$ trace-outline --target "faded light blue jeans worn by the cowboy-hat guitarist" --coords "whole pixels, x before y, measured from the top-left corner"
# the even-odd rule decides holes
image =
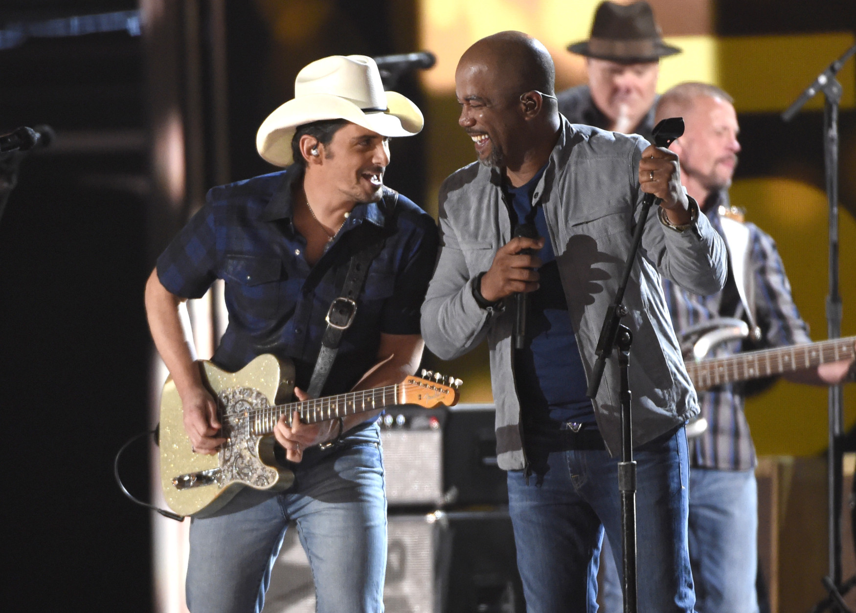
[[[309,558],[319,613],[383,611],[386,494],[377,425],[339,449],[307,450],[294,473],[285,492],[247,487],[216,515],[193,518],[193,613],[260,611],[290,521]]]

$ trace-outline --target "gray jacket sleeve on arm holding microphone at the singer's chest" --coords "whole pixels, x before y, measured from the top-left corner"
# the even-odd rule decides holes
[[[443,360],[464,355],[487,334],[493,309],[482,309],[473,298],[473,281],[441,202],[440,251],[422,304],[422,338],[428,349]]]

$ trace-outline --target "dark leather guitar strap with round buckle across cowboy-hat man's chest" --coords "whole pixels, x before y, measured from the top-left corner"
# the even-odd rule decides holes
[[[390,215],[394,214],[395,206],[398,204],[398,192],[384,186],[381,202]],[[336,354],[339,352],[342,337],[354,323],[354,316],[357,314],[357,298],[360,297],[360,292],[366,285],[366,276],[368,276],[369,268],[372,266],[372,260],[381,252],[384,242],[385,239],[383,238],[372,241],[371,244],[366,245],[351,257],[348,274],[342,285],[342,292],[338,298],[333,300],[330,309],[327,311],[327,329],[321,339],[321,351],[318,352],[318,360],[316,360],[315,369],[312,371],[309,389],[306,390],[310,398],[321,396],[321,390],[324,389],[330,368],[333,367]]]

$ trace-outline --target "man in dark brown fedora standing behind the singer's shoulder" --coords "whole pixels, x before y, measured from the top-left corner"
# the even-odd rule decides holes
[[[568,46],[586,56],[588,85],[562,91],[559,112],[571,123],[636,133],[651,142],[659,60],[681,53],[663,43],[651,6],[604,2],[588,40]]]

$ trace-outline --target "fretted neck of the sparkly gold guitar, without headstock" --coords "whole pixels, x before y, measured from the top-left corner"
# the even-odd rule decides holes
[[[291,425],[292,416],[296,411],[303,423],[329,421],[337,417],[366,413],[367,411],[383,409],[384,407],[403,404],[399,388],[403,384],[376,387],[360,392],[347,392],[336,396],[312,398],[300,402],[275,404],[263,410],[254,411],[252,428],[253,434],[263,436],[273,432],[276,421],[286,416]]]

